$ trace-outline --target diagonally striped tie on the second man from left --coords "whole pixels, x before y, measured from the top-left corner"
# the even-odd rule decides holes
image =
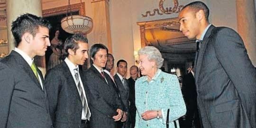
[[[87,101],[85,100],[85,96],[82,93],[82,86],[81,86],[80,81],[79,81],[78,69],[75,68],[74,72],[75,72],[75,80],[76,80],[76,83],[77,83],[78,92],[79,92],[79,95],[80,95],[80,98],[81,98],[81,101],[82,101],[82,106],[83,106],[82,109],[83,109],[83,112],[85,114],[84,116],[87,118],[87,120],[90,120],[91,112],[88,111]]]

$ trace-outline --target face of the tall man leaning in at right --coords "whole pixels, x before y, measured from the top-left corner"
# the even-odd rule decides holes
[[[196,12],[192,11],[189,7],[184,8],[179,14],[180,31],[188,39],[200,39],[200,19]]]

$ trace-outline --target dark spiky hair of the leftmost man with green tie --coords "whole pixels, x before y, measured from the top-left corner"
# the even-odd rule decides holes
[[[50,23],[42,17],[38,17],[29,13],[19,16],[11,24],[11,32],[17,47],[21,42],[21,37],[24,33],[29,32],[36,36],[39,26],[51,29]]]

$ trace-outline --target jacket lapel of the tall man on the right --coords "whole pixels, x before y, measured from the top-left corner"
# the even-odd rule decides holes
[[[203,59],[203,55],[204,55],[204,52],[205,52],[205,49],[206,49],[206,46],[208,44],[208,41],[209,41],[209,37],[210,37],[210,34],[212,32],[212,30],[215,28],[215,26],[211,25],[209,27],[209,29],[207,30],[207,32],[205,33],[204,37],[203,37],[203,40],[202,40],[202,44],[201,44],[201,48],[200,48],[200,51],[198,53],[198,58],[197,58],[197,63],[196,63],[196,69],[195,69],[195,82],[197,83],[197,80],[198,80],[198,76],[199,76],[199,72],[201,70],[201,64],[202,64],[202,59]]]

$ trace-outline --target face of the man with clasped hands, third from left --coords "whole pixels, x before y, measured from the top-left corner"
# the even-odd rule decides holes
[[[93,61],[93,64],[95,66],[97,66],[98,68],[102,69],[106,65],[107,58],[108,58],[107,50],[106,49],[100,49],[95,54],[94,58],[91,58],[91,60]]]

